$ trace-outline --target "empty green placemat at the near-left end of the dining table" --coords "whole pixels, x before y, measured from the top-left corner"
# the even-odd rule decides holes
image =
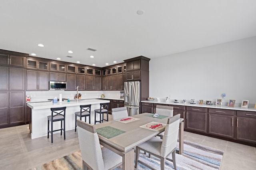
[[[118,128],[113,128],[110,126],[107,127],[102,127],[102,128],[98,128],[96,129],[97,133],[107,139],[115,137],[119,134],[125,133],[126,131],[120,130]]]

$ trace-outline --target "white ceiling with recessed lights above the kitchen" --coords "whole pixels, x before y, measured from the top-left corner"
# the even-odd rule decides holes
[[[138,15],[137,10],[144,10],[144,14]],[[0,3],[0,49],[98,67],[140,55],[162,57],[252,36],[256,36],[256,0]],[[88,51],[89,47],[97,51]]]

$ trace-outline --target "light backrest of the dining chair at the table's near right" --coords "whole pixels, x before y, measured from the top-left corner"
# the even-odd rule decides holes
[[[176,148],[180,126],[180,114],[168,119],[166,124],[160,154],[162,157],[168,155]]]

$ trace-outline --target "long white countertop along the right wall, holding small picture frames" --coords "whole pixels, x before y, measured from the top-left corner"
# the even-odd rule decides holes
[[[199,105],[199,104],[190,104],[190,103],[174,103],[174,102],[166,102],[166,101],[141,101],[146,103],[156,103],[156,104],[164,104],[164,105],[179,105],[179,106],[194,106],[194,107],[207,107],[207,108],[214,108],[214,109],[229,109],[229,110],[239,110],[239,111],[253,111],[256,112],[254,108],[241,108],[238,106],[235,107],[228,107],[228,106],[216,106],[216,105]]]

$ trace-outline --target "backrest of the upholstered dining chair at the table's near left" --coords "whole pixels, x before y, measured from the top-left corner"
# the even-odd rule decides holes
[[[104,161],[96,128],[80,120],[77,120],[77,126],[78,140],[83,161],[88,164],[90,169],[103,170]]]

